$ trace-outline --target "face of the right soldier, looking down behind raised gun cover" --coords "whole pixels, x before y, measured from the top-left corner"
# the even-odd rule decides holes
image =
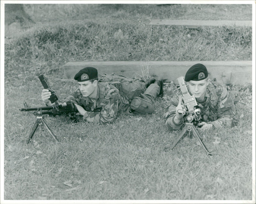
[[[192,95],[194,95],[195,98],[204,99],[208,83],[209,83],[209,81],[207,78],[204,80],[201,80],[201,81],[190,80],[188,82],[188,88],[189,88],[190,93]]]

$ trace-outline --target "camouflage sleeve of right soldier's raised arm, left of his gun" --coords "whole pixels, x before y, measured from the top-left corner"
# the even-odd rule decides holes
[[[171,105],[166,108],[166,112],[164,113],[165,125],[170,130],[180,129],[180,127],[184,124],[184,118],[182,118],[179,124],[175,123],[173,120],[176,113],[176,107],[178,106],[179,98],[181,96],[181,92],[177,91],[170,101]]]

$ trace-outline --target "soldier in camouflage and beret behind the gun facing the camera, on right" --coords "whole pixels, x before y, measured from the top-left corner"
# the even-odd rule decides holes
[[[212,84],[208,78],[208,72],[204,65],[196,64],[190,67],[185,75],[188,91],[194,95],[198,106],[202,109],[204,121],[200,129],[220,129],[223,126],[235,125],[236,109],[233,102],[233,94],[229,94],[227,88],[220,84]],[[238,95],[238,94],[237,94]],[[178,113],[179,109],[186,110],[181,105],[179,90],[171,100],[171,106],[167,107],[164,114],[165,125],[168,129],[180,129],[184,124],[184,116]]]

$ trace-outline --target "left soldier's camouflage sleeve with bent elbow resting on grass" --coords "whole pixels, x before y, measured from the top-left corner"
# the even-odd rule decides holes
[[[101,124],[114,121],[118,112],[119,98],[119,91],[117,89],[110,89],[101,103],[101,111],[86,112],[83,119],[88,122]]]

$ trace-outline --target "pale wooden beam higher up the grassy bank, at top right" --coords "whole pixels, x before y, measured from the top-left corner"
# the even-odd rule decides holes
[[[252,20],[151,20],[149,25],[172,25],[198,28],[201,26],[246,26],[252,27]]]

